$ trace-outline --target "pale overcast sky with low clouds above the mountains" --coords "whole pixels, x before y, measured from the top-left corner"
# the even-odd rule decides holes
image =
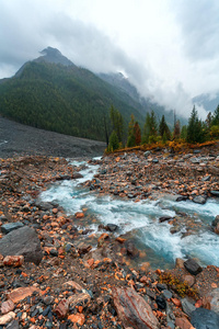
[[[219,90],[219,0],[0,0],[0,78],[47,46],[189,115]]]

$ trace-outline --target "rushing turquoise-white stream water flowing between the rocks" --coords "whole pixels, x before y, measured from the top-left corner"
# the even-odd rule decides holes
[[[73,161],[71,164],[81,166],[83,162]],[[219,215],[217,200],[209,200],[200,205],[189,201],[174,202],[169,196],[138,203],[100,196],[81,186],[81,183],[93,178],[97,168],[99,166],[87,166],[80,171],[83,178],[54,184],[42,193],[42,200],[58,202],[68,214],[88,208],[99,219],[95,225],[92,224],[92,229],[96,231],[100,223],[118,225],[117,235],[130,234],[137,247],[146,251],[145,261],[149,261],[153,268],[172,266],[177,257],[195,257],[201,264],[219,265],[219,236],[210,230],[212,219]],[[198,224],[198,229],[184,238],[184,226],[176,234],[171,234],[170,224],[159,223],[161,216],[174,217],[178,212],[188,214]]]

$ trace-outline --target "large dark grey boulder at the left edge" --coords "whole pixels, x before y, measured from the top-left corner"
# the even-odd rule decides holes
[[[23,256],[25,262],[39,264],[43,258],[41,241],[31,227],[12,230],[0,239],[0,253],[3,256]]]

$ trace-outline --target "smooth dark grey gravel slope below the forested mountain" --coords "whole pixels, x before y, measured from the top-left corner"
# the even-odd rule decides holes
[[[103,141],[34,128],[0,116],[0,158],[37,155],[65,158],[101,156]]]

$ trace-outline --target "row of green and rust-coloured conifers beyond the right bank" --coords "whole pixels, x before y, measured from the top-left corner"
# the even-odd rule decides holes
[[[147,113],[143,129],[140,128],[134,114],[130,116],[128,129],[124,125],[122,114],[114,105],[110,109],[111,136],[107,143],[107,150],[114,151],[123,147],[135,147],[147,144],[162,143],[168,140],[186,141],[188,144],[205,143],[219,138],[219,105],[215,113],[209,112],[205,121],[198,117],[194,105],[187,125],[181,127],[181,122],[174,120],[173,131],[170,129],[165,116],[159,121],[153,110]],[[125,132],[128,131],[127,137]]]

